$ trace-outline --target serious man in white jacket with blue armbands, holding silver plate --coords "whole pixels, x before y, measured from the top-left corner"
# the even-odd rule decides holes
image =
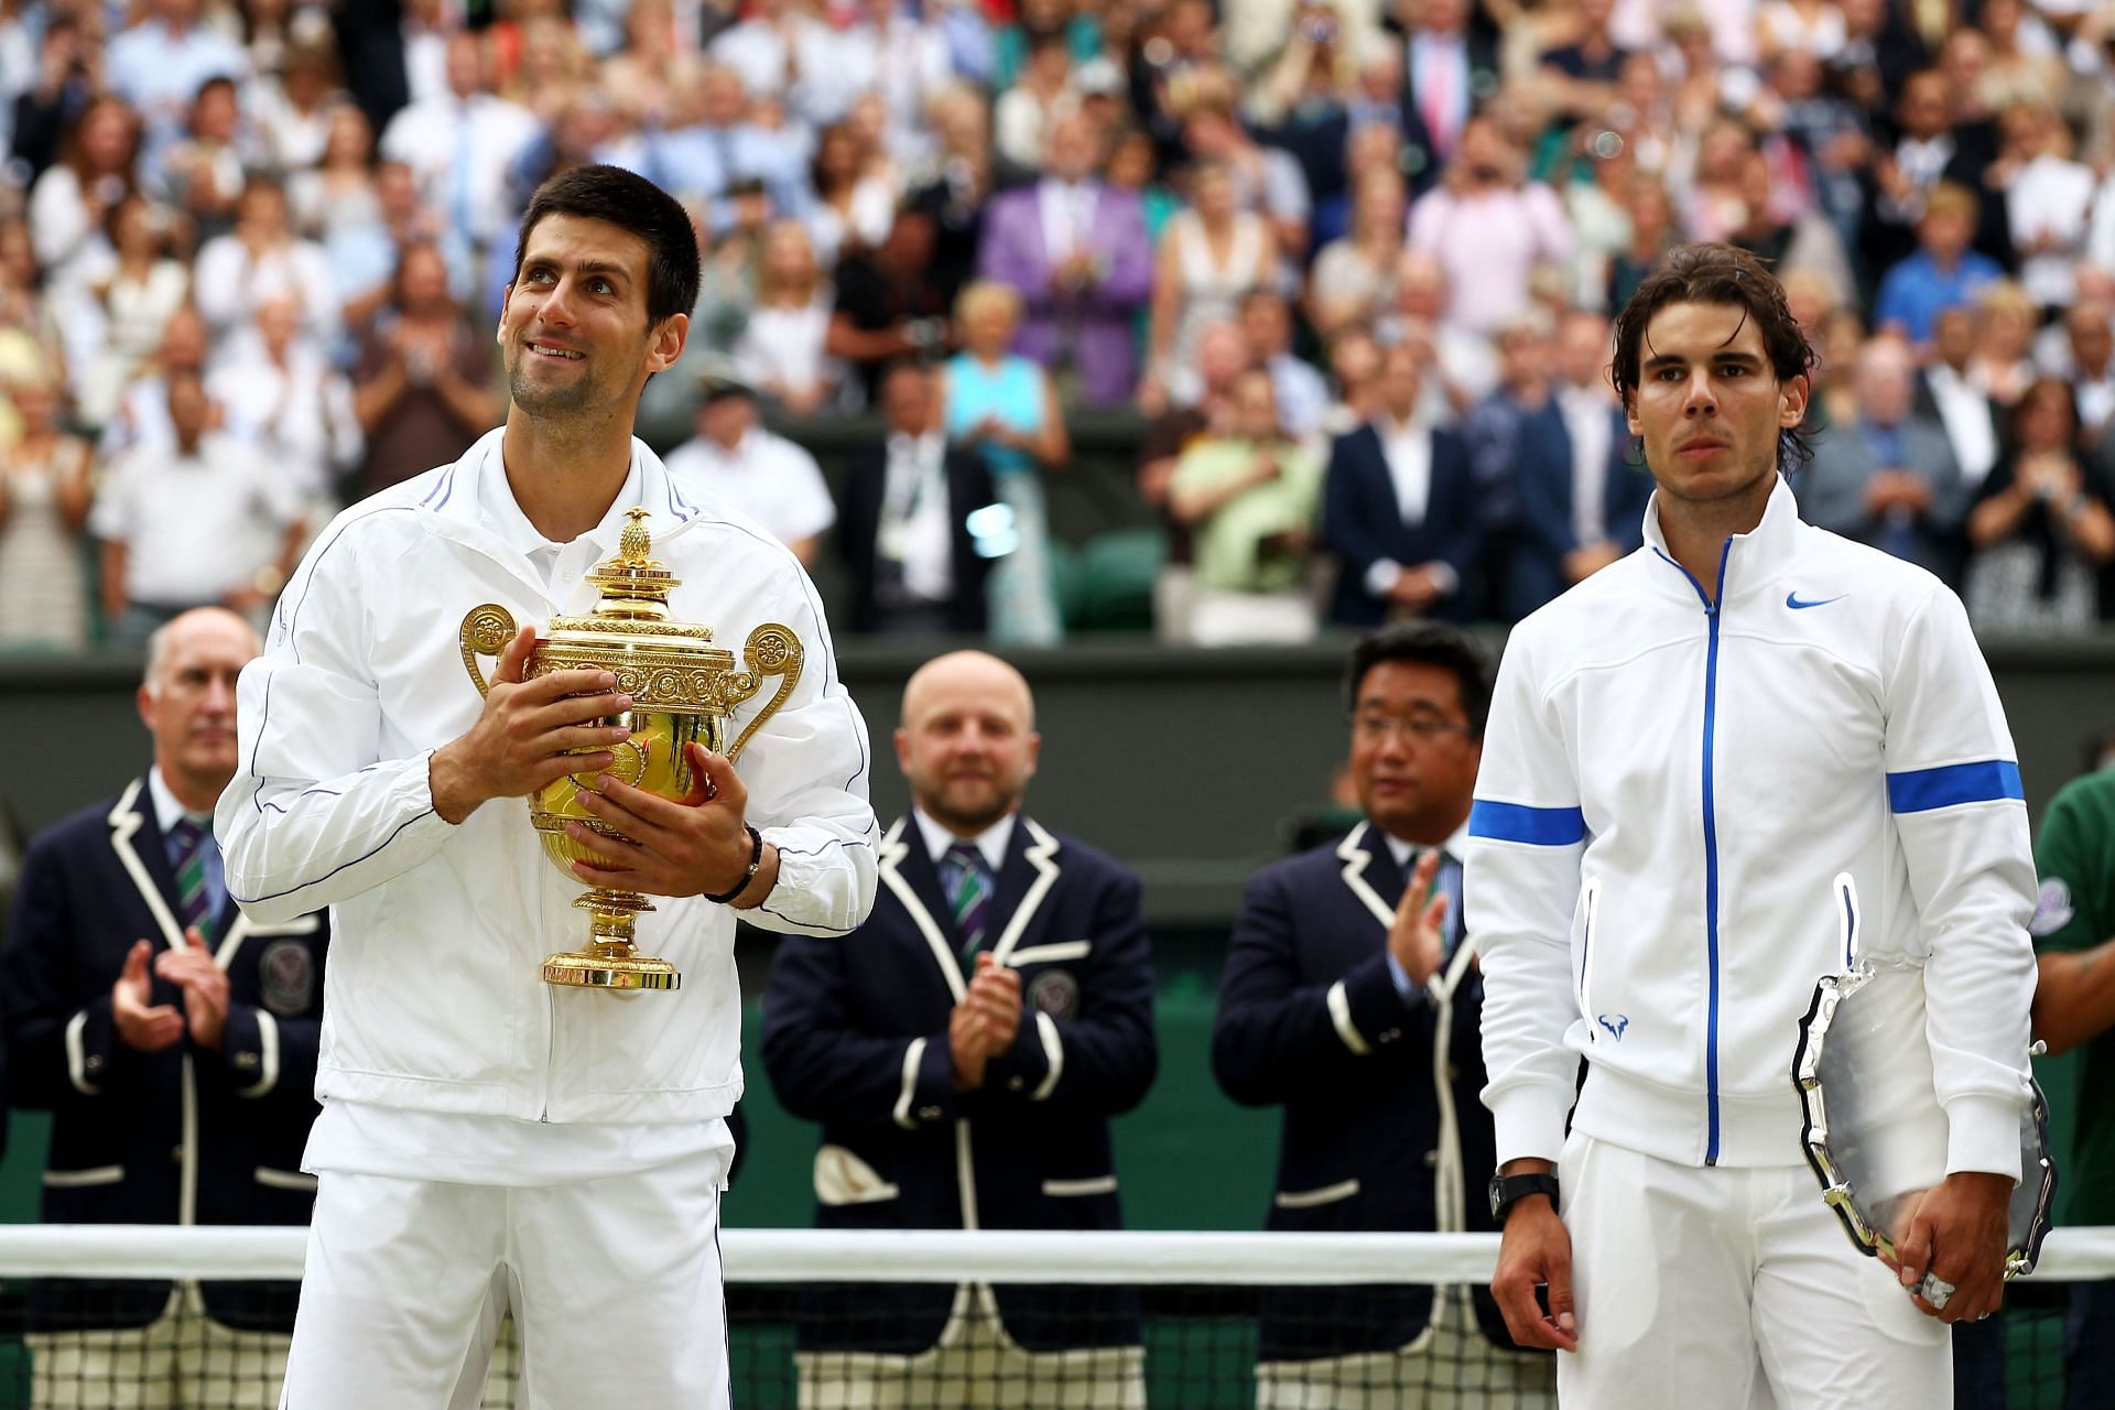
[[[1514,630],[1470,816],[1493,1294],[1569,1353],[1567,1410],[1950,1406],[2033,1110],[2005,715],[1944,583],[1800,522],[1815,355],[1753,256],[1673,252],[1614,353],[1645,545]],[[1817,981],[1865,966],[1887,1264],[1787,1080]]]

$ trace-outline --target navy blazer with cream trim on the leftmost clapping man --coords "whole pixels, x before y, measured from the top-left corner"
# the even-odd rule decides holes
[[[250,922],[228,901],[214,953],[228,972],[222,1049],[127,1046],[110,989],[135,941],[184,943],[178,890],[146,778],[30,843],[0,951],[0,1027],[15,1106],[53,1114],[47,1224],[307,1224],[315,1177],[315,1053],[330,920]],[[152,977],[150,1004],[182,1010]],[[32,1328],[144,1325],[167,1283],[44,1281]],[[288,1330],[292,1283],[205,1283],[228,1325]]]

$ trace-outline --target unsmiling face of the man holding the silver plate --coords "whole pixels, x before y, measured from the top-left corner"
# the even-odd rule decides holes
[[[1762,330],[1739,304],[1667,304],[1645,323],[1631,433],[1669,499],[1768,501],[1779,433],[1806,414],[1806,381],[1779,383]]]

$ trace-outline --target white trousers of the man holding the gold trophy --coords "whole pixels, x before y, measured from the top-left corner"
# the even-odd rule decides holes
[[[281,1410],[725,1410],[719,1152],[569,1186],[324,1173]]]

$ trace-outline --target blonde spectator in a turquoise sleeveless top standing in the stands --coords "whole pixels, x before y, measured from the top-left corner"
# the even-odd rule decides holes
[[[954,304],[962,351],[943,370],[948,440],[983,454],[1000,503],[1013,509],[1015,545],[992,564],[986,596],[992,641],[1047,647],[1064,638],[1051,583],[1043,469],[1072,457],[1049,374],[1009,353],[1022,296],[979,279]]]

